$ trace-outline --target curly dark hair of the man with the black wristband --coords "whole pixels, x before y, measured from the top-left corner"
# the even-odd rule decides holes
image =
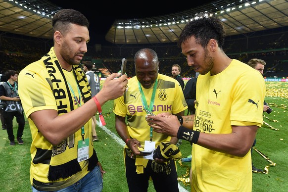
[[[225,30],[223,23],[220,19],[211,16],[201,16],[190,21],[180,34],[178,46],[187,41],[190,37],[194,36],[197,44],[205,48],[210,41],[214,39],[218,43],[219,48],[223,48],[225,40]]]

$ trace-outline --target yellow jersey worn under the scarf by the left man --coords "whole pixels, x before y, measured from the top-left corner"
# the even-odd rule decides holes
[[[83,98],[79,98],[79,92],[77,88],[77,83],[73,74],[73,71],[68,72],[63,70],[65,78],[67,82],[70,84],[76,99],[81,101],[83,104]],[[31,78],[32,77],[32,78]],[[81,171],[72,175],[67,179],[60,179],[57,182],[50,182],[48,181],[48,169],[49,169],[49,162],[50,156],[49,155],[52,150],[53,145],[50,144],[45,137],[38,131],[34,122],[29,118],[29,115],[35,111],[45,110],[45,109],[57,109],[56,101],[54,94],[51,90],[51,85],[48,83],[48,79],[50,79],[48,75],[48,71],[45,68],[45,65],[42,60],[36,61],[28,66],[26,66],[20,73],[18,78],[19,83],[19,95],[21,97],[21,102],[28,118],[28,122],[30,125],[31,135],[32,135],[32,144],[30,148],[31,152],[31,166],[30,166],[30,182],[31,185],[38,185],[43,187],[43,190],[59,190],[65,187],[68,187],[74,184],[76,181],[83,178],[88,173],[88,160],[81,161],[79,163],[81,167]],[[71,96],[73,93],[70,88],[67,88],[70,91]],[[78,108],[78,104],[75,97],[72,101],[70,101],[73,108]],[[68,109],[68,111],[70,111]],[[45,117],[43,117],[45,118]],[[64,128],[63,128],[64,129]],[[92,122],[91,120],[85,124],[85,139],[90,139],[90,147],[89,153],[93,153],[93,142],[92,142]],[[61,149],[57,149],[58,153],[66,153],[68,158],[73,156],[77,157],[75,152],[77,151],[78,141],[82,140],[81,136],[81,129],[78,130],[75,134],[71,135],[70,137],[65,140],[65,142],[61,143]],[[67,141],[67,143],[66,143]],[[76,150],[75,150],[76,148]],[[73,151],[71,149],[74,149]],[[73,155],[71,154],[73,152]],[[57,155],[53,154],[53,155]],[[47,159],[47,160],[45,160]],[[66,161],[67,159],[62,159]],[[52,185],[48,185],[51,184]],[[43,185],[45,184],[45,185]]]

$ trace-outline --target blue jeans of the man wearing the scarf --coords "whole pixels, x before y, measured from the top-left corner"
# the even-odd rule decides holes
[[[100,167],[96,166],[92,171],[90,171],[86,176],[84,176],[75,184],[56,192],[102,192],[102,189],[103,179],[101,176]],[[38,191],[32,186],[32,192],[45,191]]]

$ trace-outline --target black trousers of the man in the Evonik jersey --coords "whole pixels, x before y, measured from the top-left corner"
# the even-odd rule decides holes
[[[137,174],[135,161],[136,159],[126,154],[125,167],[129,192],[147,192],[150,177],[156,192],[179,192],[174,160],[170,160],[171,173],[169,175],[165,172],[155,173],[151,168],[152,160],[148,161],[143,174]]]

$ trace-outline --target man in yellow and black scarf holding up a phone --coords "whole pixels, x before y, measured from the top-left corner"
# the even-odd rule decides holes
[[[54,46],[19,74],[32,135],[32,191],[101,192],[105,171],[92,142],[92,117],[105,102],[123,96],[127,76],[111,74],[92,97],[79,67],[90,41],[89,21],[79,11],[61,9],[51,23]]]

